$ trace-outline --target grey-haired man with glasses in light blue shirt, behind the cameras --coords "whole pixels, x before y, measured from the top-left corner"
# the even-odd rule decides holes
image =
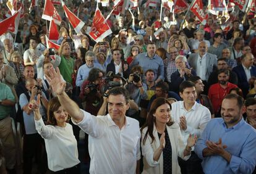
[[[83,81],[88,78],[90,70],[92,68],[100,68],[99,64],[94,64],[95,55],[92,51],[87,51],[85,54],[85,64],[82,65],[77,72],[77,79],[75,80],[75,85],[81,87]]]

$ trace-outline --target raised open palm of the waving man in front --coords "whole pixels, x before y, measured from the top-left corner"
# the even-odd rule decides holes
[[[45,75],[47,80],[49,81],[49,85],[53,89],[53,92],[57,95],[61,95],[65,91],[66,81],[64,81],[61,77],[61,73],[59,72],[59,68],[51,68],[49,70],[49,76]]]

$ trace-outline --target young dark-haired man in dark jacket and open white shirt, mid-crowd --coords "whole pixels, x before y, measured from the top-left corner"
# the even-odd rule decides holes
[[[112,61],[106,67],[106,73],[113,72],[114,74],[119,74],[124,78],[129,77],[129,69],[127,62],[122,62],[121,60],[121,50],[113,49],[112,50]]]

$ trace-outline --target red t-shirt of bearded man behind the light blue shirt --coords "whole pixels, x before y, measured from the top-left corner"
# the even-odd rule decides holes
[[[211,104],[213,104],[213,109],[215,114],[218,113],[221,109],[221,102],[223,101],[224,97],[228,95],[230,89],[237,88],[236,85],[233,83],[228,82],[228,86],[226,89],[223,89],[220,86],[220,83],[215,83],[210,86],[208,91],[208,97],[211,100]]]

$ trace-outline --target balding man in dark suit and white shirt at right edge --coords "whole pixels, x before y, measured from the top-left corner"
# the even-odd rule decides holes
[[[253,64],[254,55],[252,53],[246,53],[242,56],[242,64],[233,68],[233,72],[237,74],[237,86],[242,89],[244,97],[246,97],[249,91],[249,79],[256,77],[256,67]]]

